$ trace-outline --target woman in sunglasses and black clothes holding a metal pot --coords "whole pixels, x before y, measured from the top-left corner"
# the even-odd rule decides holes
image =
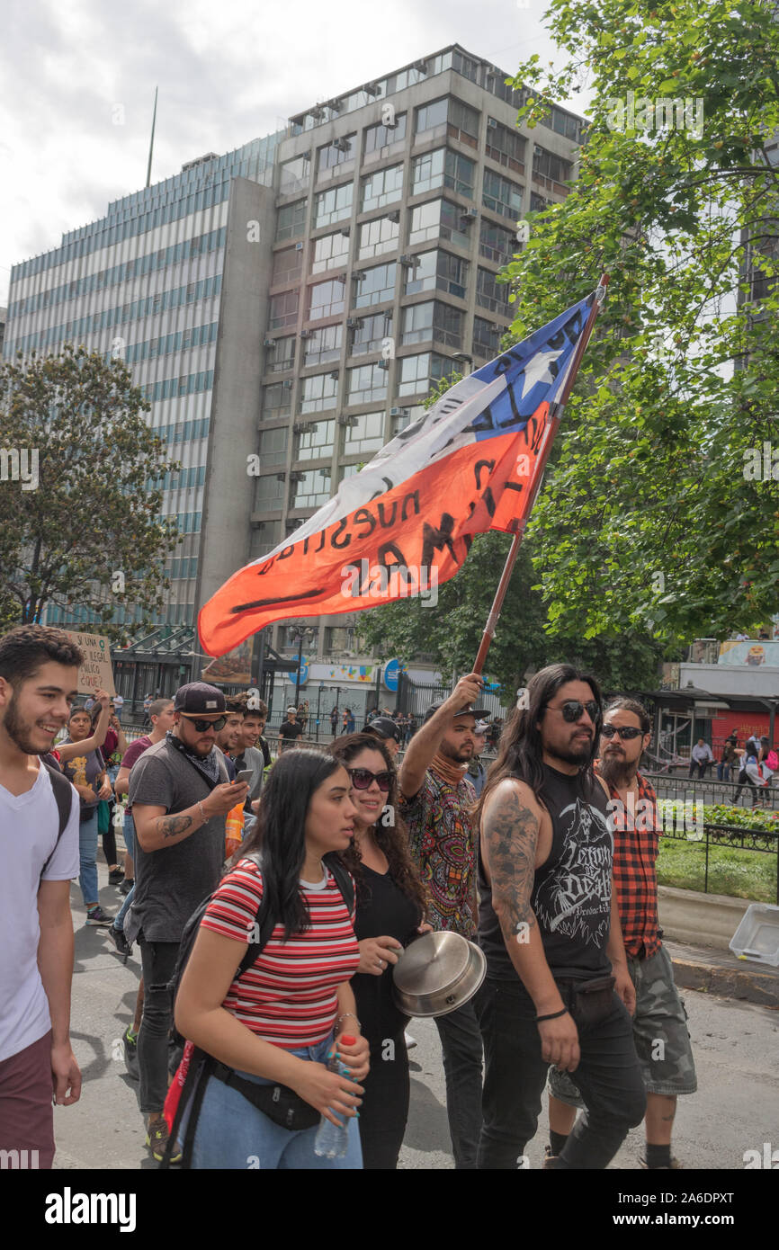
[[[430,930],[426,898],[398,815],[398,779],[386,746],[371,734],[349,734],[329,751],[346,768],[356,809],[354,839],[341,859],[356,881],[360,964],[351,988],[370,1045],[360,1108],[363,1166],[386,1170],[398,1166],[410,1095],[408,1016],[393,1000],[393,966],[404,946]]]

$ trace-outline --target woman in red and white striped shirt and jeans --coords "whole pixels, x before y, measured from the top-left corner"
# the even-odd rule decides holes
[[[283,755],[269,774],[244,854],[263,850],[263,870],[239,859],[203,919],[176,996],[176,1028],[195,1046],[256,1085],[284,1085],[328,1120],[345,1118],[341,1159],[314,1154],[316,1125],[288,1130],[243,1092],[209,1078],[193,1168],[361,1168],[354,1116],[369,1069],[349,980],[360,952],[351,914],[324,856],[354,832],[349,774],[319,751]],[[235,970],[268,891],[276,925],[255,962]],[[254,939],[256,940],[256,938]],[[344,1036],[354,1039],[350,1044]],[[351,1079],[331,1072],[333,1045]]]

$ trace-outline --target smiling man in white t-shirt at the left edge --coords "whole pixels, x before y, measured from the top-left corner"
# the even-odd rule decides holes
[[[79,795],[41,761],[68,721],[84,656],[63,630],[0,638],[0,1151],[51,1168],[53,1100],[78,1101],[70,1045]]]

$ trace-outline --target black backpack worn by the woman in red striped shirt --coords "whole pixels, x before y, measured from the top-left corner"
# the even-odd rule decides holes
[[[250,859],[254,864],[256,864],[260,871],[263,871],[261,851],[255,851],[253,855],[244,855],[243,858]],[[354,882],[351,880],[351,876],[349,875],[348,870],[344,868],[344,865],[341,864],[340,859],[335,852],[324,855],[323,862],[331,871],[335,879],[335,884],[341,891],[341,896],[344,899],[344,902],[346,904],[349,915],[351,915],[351,909],[354,906]],[[214,894],[216,890],[214,890]],[[181,985],[181,978],[184,976],[184,969],[186,968],[189,958],[193,952],[193,946],[195,945],[195,939],[200,929],[200,921],[203,920],[206,908],[211,901],[211,899],[214,898],[214,894],[209,894],[208,899],[204,899],[203,902],[195,909],[195,911],[193,911],[191,916],[184,925],[184,930],[181,932],[181,942],[179,946],[176,966],[174,969],[173,978],[168,982],[168,989],[170,990],[171,994],[174,1021],[175,1021],[176,996],[179,992],[179,986]],[[254,925],[255,925],[255,932],[258,935],[258,941],[249,942],[249,946],[246,948],[246,954],[244,955],[238,966],[238,971],[234,978],[235,980],[239,976],[243,976],[248,968],[251,968],[254,961],[259,958],[259,955],[268,945],[273,935],[273,931],[276,928],[276,918],[275,915],[273,915],[270,910],[270,906],[268,904],[268,892],[265,890],[263,890],[263,898],[260,900],[260,905],[254,918]],[[178,1049],[181,1049],[186,1041],[186,1039],[183,1038],[179,1030],[176,1029],[175,1022],[171,1024],[170,1028],[170,1039],[173,1045],[176,1046]],[[189,1071],[184,1081],[184,1088],[181,1089],[181,1095],[179,1098],[179,1105],[170,1130],[168,1146],[165,1149],[163,1161],[160,1162],[161,1169],[166,1169],[170,1166],[170,1159],[179,1132],[179,1125],[181,1122],[185,1108],[191,1098],[193,1102],[191,1115],[186,1125],[186,1134],[185,1134],[186,1140],[184,1142],[184,1151],[183,1151],[183,1166],[189,1168],[191,1159],[191,1148],[195,1136],[195,1128],[198,1124],[198,1115],[200,1112],[200,1104],[203,1101],[203,1095],[205,1094],[205,1086],[208,1084],[210,1069],[214,1066],[215,1062],[216,1061],[211,1055],[208,1055],[205,1051],[200,1050],[199,1048],[195,1048],[190,1059]]]

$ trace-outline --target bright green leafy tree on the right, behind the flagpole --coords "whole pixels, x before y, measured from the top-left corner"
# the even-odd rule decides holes
[[[550,625],[721,639],[778,598],[775,6],[551,0],[548,18],[570,60],[520,66],[519,116],[586,74],[591,121],[570,194],[508,268],[513,335],[610,274],[529,526]]]

